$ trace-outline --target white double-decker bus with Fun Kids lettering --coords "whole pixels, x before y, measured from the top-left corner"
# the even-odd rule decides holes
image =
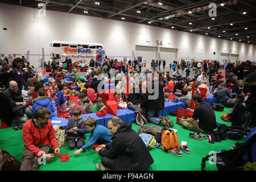
[[[79,60],[96,59],[96,55],[105,56],[103,44],[81,43],[81,42],[62,42],[52,41],[50,44],[51,57],[65,60],[66,57],[72,59],[72,62]]]

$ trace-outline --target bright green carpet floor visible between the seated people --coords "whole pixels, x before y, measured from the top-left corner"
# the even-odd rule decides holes
[[[222,113],[227,113],[230,109],[225,108],[224,111],[216,111],[216,119],[218,123],[231,126],[230,122],[224,122],[220,118]],[[207,139],[196,140],[188,137],[189,131],[184,129],[180,125],[176,125],[176,117],[168,115],[170,119],[174,122],[174,129],[177,129],[179,143],[181,141],[186,141],[187,146],[191,148],[191,153],[186,154],[183,152],[181,157],[168,154],[162,150],[162,148],[154,148],[150,151],[154,163],[148,168],[149,171],[200,171],[201,170],[201,160],[203,157],[207,156],[209,151],[221,151],[230,150],[234,143],[243,142],[246,138],[244,136],[241,140],[231,140],[226,139],[218,143],[209,143]],[[147,125],[154,125],[149,123]],[[137,123],[133,123],[133,129],[137,131]],[[86,134],[88,139],[89,134]],[[86,139],[86,140],[87,140]],[[0,148],[10,152],[16,159],[22,162],[22,149],[24,147],[24,142],[22,139],[22,130],[14,131],[13,128],[0,129]],[[95,171],[97,170],[95,164],[101,161],[101,157],[92,150],[92,147],[84,153],[80,153],[78,156],[73,156],[73,152],[76,150],[69,150],[68,146],[60,148],[61,154],[72,155],[68,162],[60,162],[60,158],[55,156],[52,160],[47,161],[46,165],[42,165],[38,168],[39,171],[61,171],[61,170],[86,170]],[[215,165],[210,165],[207,163],[205,170],[216,171]]]

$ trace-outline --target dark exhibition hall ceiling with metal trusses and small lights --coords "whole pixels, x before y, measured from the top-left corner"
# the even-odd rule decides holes
[[[256,0],[2,0],[256,44]],[[43,3],[43,4],[41,4]]]

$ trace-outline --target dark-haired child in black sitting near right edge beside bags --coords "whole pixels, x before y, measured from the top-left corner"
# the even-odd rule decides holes
[[[231,126],[242,126],[243,115],[245,115],[245,106],[243,106],[244,97],[241,94],[237,94],[235,97],[236,105],[234,105],[232,111],[230,111],[229,117],[232,122]]]

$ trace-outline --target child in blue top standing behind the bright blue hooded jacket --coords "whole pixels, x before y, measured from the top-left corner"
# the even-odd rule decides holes
[[[63,90],[63,85],[61,84],[57,84],[55,85],[55,107],[57,107],[58,105],[60,105],[60,111],[61,113],[65,113],[69,110],[69,108],[67,108],[67,100],[66,98],[63,96],[63,93],[61,92],[61,90]]]

